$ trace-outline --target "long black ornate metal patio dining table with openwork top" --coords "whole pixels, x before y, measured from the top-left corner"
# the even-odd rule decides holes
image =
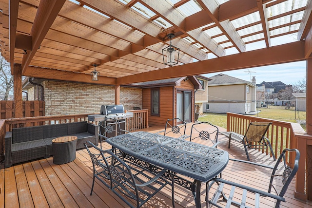
[[[150,132],[121,134],[106,142],[130,158],[170,170],[176,183],[192,190],[196,208],[201,207],[201,182],[210,181],[229,162],[227,151]],[[194,181],[188,183],[184,176]]]

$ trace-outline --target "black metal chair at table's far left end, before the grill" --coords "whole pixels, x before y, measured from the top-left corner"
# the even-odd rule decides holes
[[[119,120],[114,118],[105,117],[103,120],[98,122],[98,138],[100,142],[100,147],[102,149],[102,141],[105,142],[108,139],[107,134],[120,135],[121,132],[128,132],[120,129]]]

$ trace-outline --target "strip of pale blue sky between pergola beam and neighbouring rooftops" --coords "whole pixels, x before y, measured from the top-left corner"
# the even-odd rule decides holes
[[[298,81],[306,78],[306,61],[297,61],[285,64],[275,64],[270,66],[254,67],[249,69],[240,69],[227,72],[221,72],[228,76],[234,76],[246,81],[250,81],[255,76],[256,84],[262,81],[273,82],[281,81],[284,84],[296,84]],[[211,77],[220,73],[204,74]]]

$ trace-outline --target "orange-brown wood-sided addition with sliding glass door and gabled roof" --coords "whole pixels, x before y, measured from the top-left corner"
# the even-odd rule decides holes
[[[141,83],[142,107],[149,110],[149,125],[164,125],[168,118],[194,122],[194,94],[201,85],[195,76]]]

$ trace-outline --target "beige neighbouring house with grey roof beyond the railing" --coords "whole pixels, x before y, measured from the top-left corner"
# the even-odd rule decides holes
[[[210,113],[242,113],[254,114],[255,103],[255,78],[252,82],[218,74],[208,81],[208,103],[206,111]]]

